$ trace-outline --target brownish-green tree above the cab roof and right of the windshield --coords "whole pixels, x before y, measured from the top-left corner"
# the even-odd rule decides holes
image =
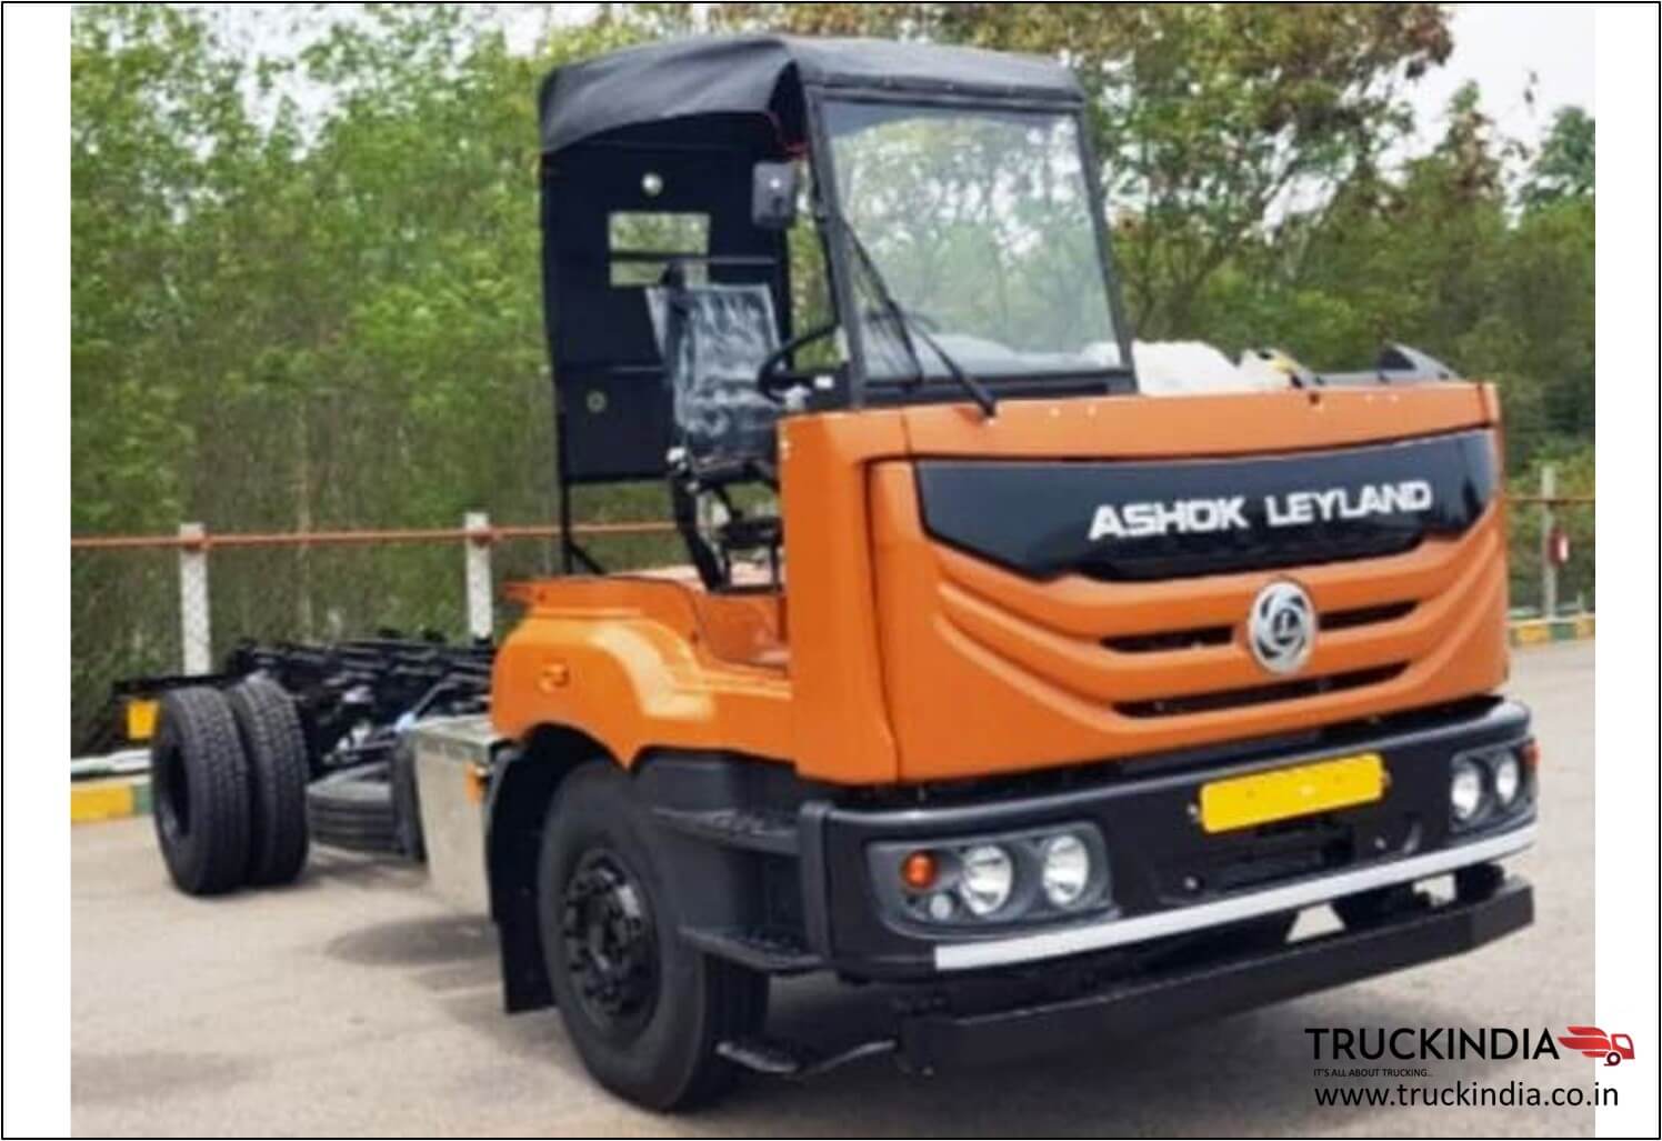
[[[655,32],[683,5],[638,5]],[[665,12],[671,8],[673,12]],[[917,37],[1057,55],[1090,98],[1132,321],[1205,336],[1197,303],[1290,203],[1378,165],[1403,83],[1448,58],[1434,3],[720,3],[718,28]]]

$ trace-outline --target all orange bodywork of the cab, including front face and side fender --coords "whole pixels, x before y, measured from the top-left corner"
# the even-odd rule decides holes
[[[1160,464],[1291,457],[1487,427],[1484,386],[1006,401],[791,416],[779,427],[786,595],[666,575],[532,584],[497,659],[510,737],[565,724],[632,763],[723,748],[833,783],[1007,773],[1246,740],[1494,689],[1504,517],[1381,557],[1228,574],[1027,575],[929,534],[939,461]],[[1486,444],[1487,447],[1487,444]],[[1158,486],[1158,481],[1157,481]],[[1019,516],[1022,504],[989,504]],[[1296,675],[1245,617],[1293,579],[1326,629]],[[1366,615],[1368,620],[1356,620]],[[1185,640],[1188,632],[1203,637]]]

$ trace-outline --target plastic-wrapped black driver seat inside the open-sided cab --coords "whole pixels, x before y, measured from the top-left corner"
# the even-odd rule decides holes
[[[685,266],[671,263],[661,283],[647,289],[647,304],[673,411],[670,502],[698,577],[706,589],[733,589],[735,556],[761,551],[776,587],[779,517],[748,514],[728,494],[740,484],[779,486],[779,406],[756,389],[756,371],[779,348],[773,291],[766,284],[686,284]],[[703,496],[713,496],[726,516],[713,529],[713,544],[700,529]]]

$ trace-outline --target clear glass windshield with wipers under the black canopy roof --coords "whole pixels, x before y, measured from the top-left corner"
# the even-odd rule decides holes
[[[949,376],[907,324],[979,376],[1120,366],[1072,115],[831,101],[826,128],[881,274],[853,274],[869,378]]]

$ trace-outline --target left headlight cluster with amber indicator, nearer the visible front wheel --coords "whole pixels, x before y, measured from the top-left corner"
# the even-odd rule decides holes
[[[871,873],[891,913],[927,925],[1055,918],[1109,900],[1107,850],[1089,823],[878,843]]]

